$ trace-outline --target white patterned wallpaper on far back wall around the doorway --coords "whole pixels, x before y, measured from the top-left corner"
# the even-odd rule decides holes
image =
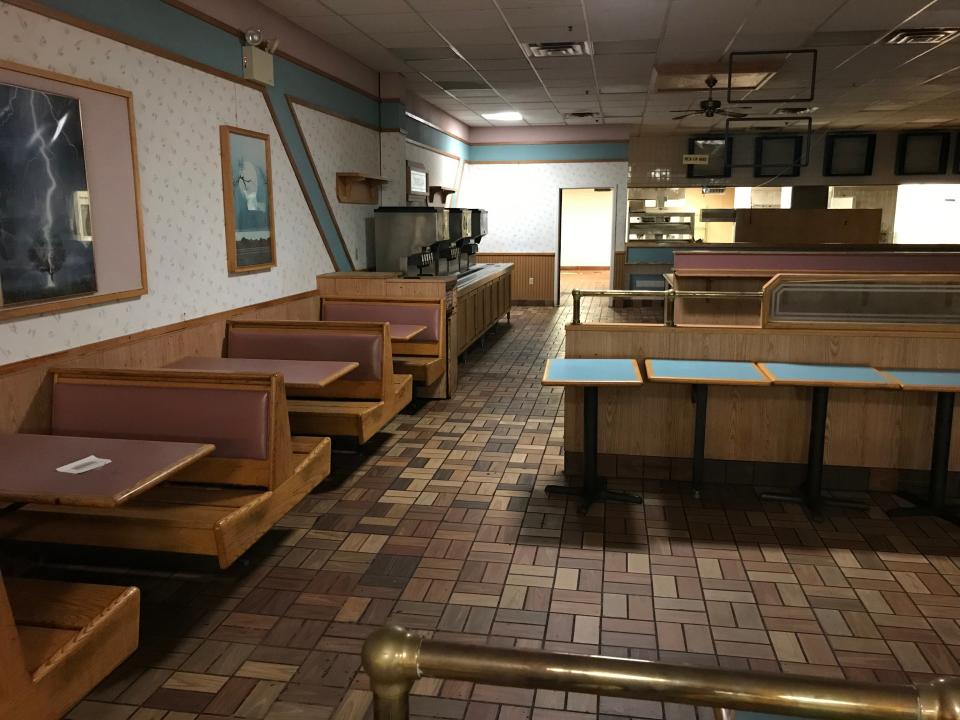
[[[627,224],[627,163],[474,164],[463,173],[457,205],[489,211],[483,252],[556,252],[560,189],[612,187],[616,190],[617,248]]]

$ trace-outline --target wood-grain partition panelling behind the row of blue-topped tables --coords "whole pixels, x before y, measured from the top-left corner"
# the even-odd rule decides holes
[[[567,326],[567,357],[633,357],[866,364],[955,368],[960,336],[924,333],[817,333],[751,328]],[[565,447],[582,448],[580,394],[566,401]],[[935,398],[896,390],[833,390],[827,417],[829,465],[926,470]],[[600,390],[600,452],[690,457],[693,403],[682,384]],[[708,458],[806,461],[808,388],[712,387]],[[960,415],[960,406],[958,406]],[[954,423],[952,470],[960,470],[960,417]]]

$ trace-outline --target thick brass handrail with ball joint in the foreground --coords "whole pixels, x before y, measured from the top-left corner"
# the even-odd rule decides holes
[[[960,679],[919,685],[667,665],[431,640],[401,627],[363,644],[375,720],[407,720],[422,677],[829,720],[958,720]]]

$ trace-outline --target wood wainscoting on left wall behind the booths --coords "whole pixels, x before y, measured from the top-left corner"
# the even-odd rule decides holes
[[[186,355],[222,355],[227,320],[319,317],[311,290],[0,366],[0,433],[50,431],[51,368],[158,368]]]

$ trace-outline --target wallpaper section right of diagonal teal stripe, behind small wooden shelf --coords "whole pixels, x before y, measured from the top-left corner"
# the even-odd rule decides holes
[[[354,264],[358,269],[372,267],[376,205],[339,202],[337,173],[380,175],[380,133],[303,105],[295,104],[294,112]]]

